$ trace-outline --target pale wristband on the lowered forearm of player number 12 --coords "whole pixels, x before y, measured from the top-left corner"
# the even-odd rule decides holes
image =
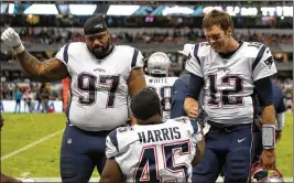
[[[274,149],[275,147],[275,125],[262,125],[263,149]]]

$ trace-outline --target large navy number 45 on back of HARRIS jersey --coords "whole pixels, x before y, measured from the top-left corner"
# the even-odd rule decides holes
[[[133,174],[133,182],[187,182],[188,165],[176,160],[181,160],[182,155],[190,155],[190,146],[189,140],[185,140],[162,144],[162,151],[157,150],[156,146],[144,147]]]

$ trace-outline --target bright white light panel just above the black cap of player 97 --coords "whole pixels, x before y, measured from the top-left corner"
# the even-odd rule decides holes
[[[96,4],[69,4],[69,12],[75,15],[91,15],[96,8]]]

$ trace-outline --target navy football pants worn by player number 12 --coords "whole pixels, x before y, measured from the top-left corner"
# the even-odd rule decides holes
[[[225,183],[249,182],[252,136],[252,125],[211,126],[205,137],[204,159],[193,168],[192,182],[215,183],[222,168]]]

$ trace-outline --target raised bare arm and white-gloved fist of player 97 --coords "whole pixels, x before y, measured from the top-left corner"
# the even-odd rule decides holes
[[[62,61],[51,58],[40,62],[31,55],[24,49],[19,34],[12,28],[7,29],[2,33],[1,40],[15,51],[18,61],[30,77],[45,83],[61,80],[68,76],[68,71]]]

